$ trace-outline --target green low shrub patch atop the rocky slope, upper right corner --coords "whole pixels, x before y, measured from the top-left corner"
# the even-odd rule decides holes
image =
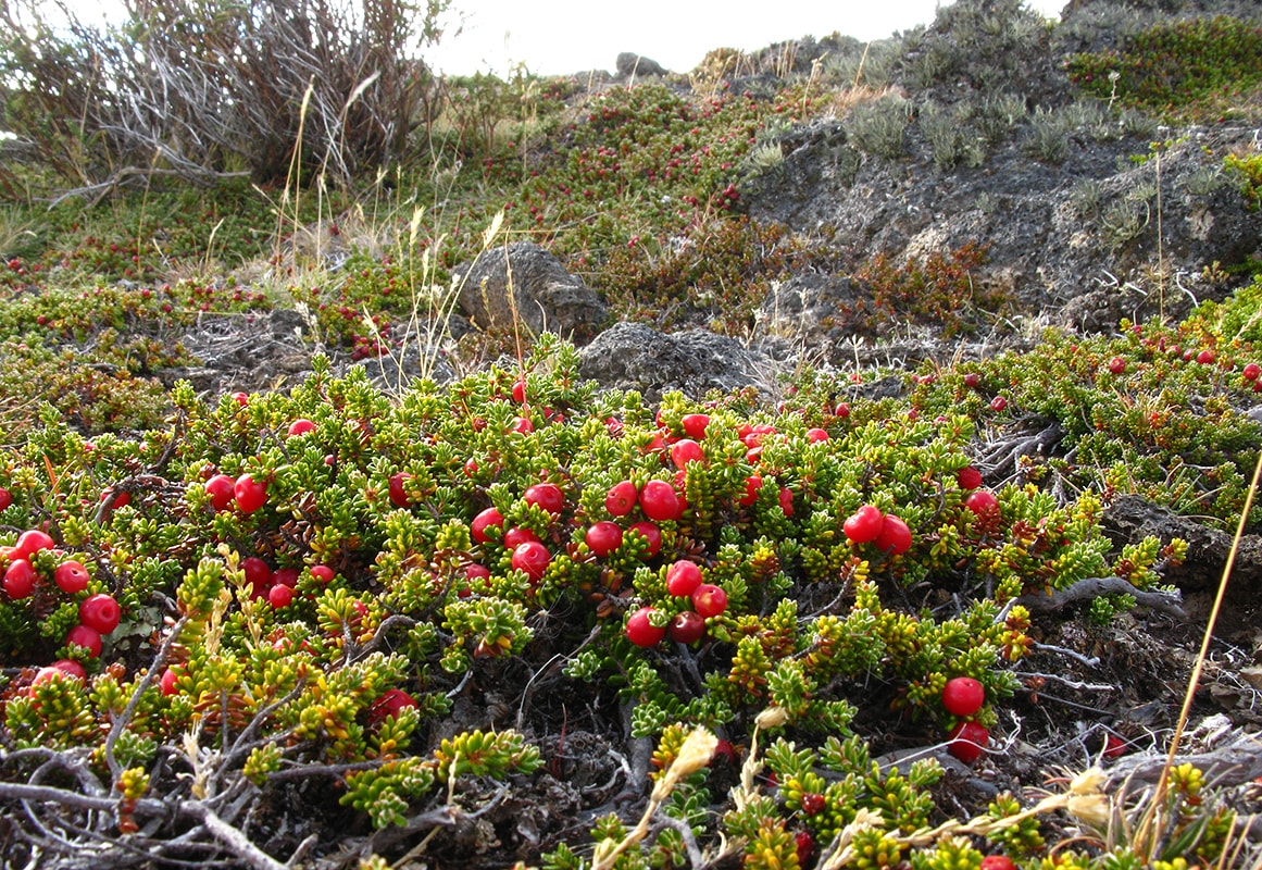
[[[1262,86],[1262,28],[1219,15],[1156,24],[1118,51],[1075,54],[1070,80],[1102,100],[1180,119],[1218,119]]]

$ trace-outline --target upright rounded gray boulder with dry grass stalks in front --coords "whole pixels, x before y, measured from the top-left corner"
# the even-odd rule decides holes
[[[485,251],[473,263],[457,266],[454,277],[461,308],[483,330],[511,330],[516,317],[533,333],[546,330],[582,343],[607,313],[604,302],[582,279],[533,241]]]

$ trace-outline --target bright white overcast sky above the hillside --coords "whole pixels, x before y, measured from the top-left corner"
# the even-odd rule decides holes
[[[371,0],[365,0],[371,1]],[[66,0],[85,20],[115,18],[120,0]],[[1068,0],[1026,0],[1058,18]],[[693,69],[713,48],[753,51],[786,39],[839,32],[883,39],[934,19],[939,0],[452,0],[463,33],[425,51],[451,74],[505,74],[525,63],[536,74],[613,71],[636,52],[675,72]],[[944,1],[943,5],[950,5]]]

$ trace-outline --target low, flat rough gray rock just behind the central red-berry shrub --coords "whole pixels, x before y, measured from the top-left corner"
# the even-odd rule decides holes
[[[602,386],[637,390],[656,402],[680,390],[699,399],[709,390],[770,386],[770,357],[703,330],[668,335],[642,323],[618,323],[579,351],[579,372]]]

